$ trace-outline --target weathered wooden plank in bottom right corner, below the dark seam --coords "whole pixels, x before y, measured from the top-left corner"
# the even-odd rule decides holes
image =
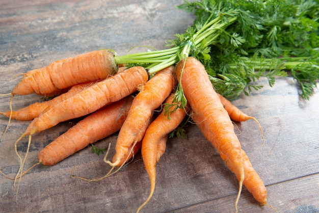
[[[278,212],[318,212],[319,211],[319,175],[309,175],[293,180],[275,183],[268,186],[268,195],[272,197],[273,206]],[[295,187],[291,187],[295,186]],[[285,193],[282,193],[282,192]],[[251,197],[248,192],[242,197]],[[236,199],[235,195],[206,201],[204,203],[185,206],[168,212],[227,212],[231,206],[230,200]],[[242,212],[274,212],[269,206],[260,206],[259,209],[252,205],[254,199],[240,202],[238,210]]]

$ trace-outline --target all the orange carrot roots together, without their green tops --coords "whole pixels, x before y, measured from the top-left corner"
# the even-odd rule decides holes
[[[109,50],[98,50],[79,55],[76,57],[77,60],[69,58],[54,62],[43,69],[29,72],[32,74],[26,74],[14,88],[12,97],[31,92],[45,94],[42,90],[38,90],[44,87],[38,82],[44,85],[60,85],[53,90],[48,90],[48,93],[71,87],[65,93],[48,101],[36,102],[18,111],[10,110],[2,113],[4,116],[17,120],[32,120],[15,143],[16,153],[20,159],[20,169],[15,180],[28,171],[23,171],[23,165],[34,134],[60,122],[88,115],[41,150],[39,163],[36,165],[55,165],[89,144],[119,131],[116,153],[112,161],[107,159],[107,155],[104,158],[105,163],[112,169],[102,178],[113,174],[112,170],[115,167],[123,166],[134,153],[141,149],[143,162],[150,177],[151,191],[147,200],[138,209],[140,210],[150,200],[155,190],[155,166],[165,152],[169,133],[180,125],[185,116],[190,115],[207,140],[220,152],[229,169],[240,180],[240,191],[244,184],[258,202],[267,204],[263,182],[241,149],[230,119],[246,121],[254,118],[245,115],[215,92],[204,66],[197,59],[185,58],[176,66],[164,68],[149,77],[145,68],[141,66],[115,67],[114,69],[112,54]],[[97,60],[96,57],[99,59]],[[105,69],[104,64],[96,62],[107,60],[109,62],[106,64],[112,65],[111,69]],[[87,61],[95,68],[81,68],[74,61],[76,63]],[[79,78],[72,75],[74,76],[72,81],[76,82],[73,86],[64,84],[64,77],[49,79],[48,82],[41,79],[42,76],[50,76],[51,72],[59,70],[61,66],[64,67],[61,73],[69,70],[75,73],[85,72],[86,76],[99,76],[95,72],[103,70],[107,74],[104,74],[106,76],[104,79],[92,77],[93,81],[89,82],[87,79],[82,80],[81,75]],[[180,103],[174,102],[176,97],[174,88],[177,82],[183,86],[187,98],[185,107],[176,108]],[[19,90],[19,88],[23,89]],[[204,94],[205,97],[203,97]],[[158,109],[162,109],[162,113],[155,116],[154,112]],[[220,128],[220,125],[224,127]],[[28,150],[22,158],[18,153],[17,143],[25,136],[29,136],[29,143]],[[236,202],[239,195],[240,192]]]

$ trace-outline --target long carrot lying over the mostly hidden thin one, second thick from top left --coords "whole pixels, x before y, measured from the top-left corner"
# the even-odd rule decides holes
[[[35,118],[22,136],[33,135],[58,123],[90,114],[137,91],[148,80],[143,67],[131,67],[103,79],[82,92],[46,108]]]

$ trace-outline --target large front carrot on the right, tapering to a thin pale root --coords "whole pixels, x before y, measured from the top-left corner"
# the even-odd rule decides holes
[[[176,75],[193,113],[200,118],[197,123],[204,123],[206,127],[200,128],[204,137],[221,155],[227,156],[227,161],[234,165],[234,170],[240,175],[235,201],[237,212],[245,173],[241,144],[234,132],[230,117],[212,87],[204,66],[197,59],[189,57],[178,62]]]

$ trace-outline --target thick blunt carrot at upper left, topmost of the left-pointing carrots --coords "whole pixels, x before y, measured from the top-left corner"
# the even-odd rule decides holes
[[[47,94],[79,83],[104,79],[116,72],[113,52],[91,51],[29,71],[13,89],[12,95]]]

